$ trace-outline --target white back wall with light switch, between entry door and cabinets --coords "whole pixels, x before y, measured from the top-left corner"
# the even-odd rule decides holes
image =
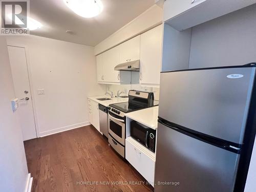
[[[105,91],[93,47],[33,35],[7,37],[7,44],[28,52],[39,136],[89,124],[87,96]]]

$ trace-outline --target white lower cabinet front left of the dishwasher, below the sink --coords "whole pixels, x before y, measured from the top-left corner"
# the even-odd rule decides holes
[[[98,103],[88,99],[88,106],[89,106],[89,119],[90,123],[98,130],[99,130],[99,107]]]

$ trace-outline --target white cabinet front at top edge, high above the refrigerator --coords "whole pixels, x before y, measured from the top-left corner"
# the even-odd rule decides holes
[[[164,22],[173,18],[185,11],[198,6],[206,0],[166,0],[164,2],[163,18]]]

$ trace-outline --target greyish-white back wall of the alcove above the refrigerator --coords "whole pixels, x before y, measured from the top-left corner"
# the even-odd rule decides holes
[[[256,5],[192,29],[189,68],[256,62]]]

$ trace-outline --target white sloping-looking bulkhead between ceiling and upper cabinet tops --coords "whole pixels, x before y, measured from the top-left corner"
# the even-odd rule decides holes
[[[98,55],[121,42],[135,37],[147,30],[150,30],[162,23],[163,10],[161,7],[154,5],[150,9],[143,12],[141,15],[132,20],[111,36],[101,41],[95,46],[94,54]]]

